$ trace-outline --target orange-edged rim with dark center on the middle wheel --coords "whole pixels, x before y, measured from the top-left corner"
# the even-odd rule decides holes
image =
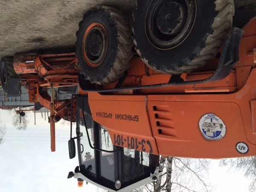
[[[87,65],[98,67],[104,60],[108,49],[108,36],[105,27],[98,22],[91,23],[84,32],[83,56]]]

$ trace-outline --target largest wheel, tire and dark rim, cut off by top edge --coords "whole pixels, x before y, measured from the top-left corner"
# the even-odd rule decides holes
[[[137,0],[137,53],[161,73],[195,70],[215,57],[232,27],[233,14],[233,0]]]

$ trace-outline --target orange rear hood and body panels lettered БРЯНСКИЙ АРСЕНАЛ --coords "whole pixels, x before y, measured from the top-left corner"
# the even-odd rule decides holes
[[[116,95],[88,93],[93,119],[108,128],[114,145],[126,148],[176,157],[255,156],[256,19],[244,27],[239,55],[233,72],[221,81]],[[217,63],[218,59],[213,59],[198,72],[181,77],[185,81],[205,79]],[[170,77],[147,69],[134,58],[122,86],[167,83]],[[226,132],[216,140],[207,139],[200,130],[201,119],[211,114],[217,117],[210,118],[210,123],[217,126],[214,118],[221,119]]]

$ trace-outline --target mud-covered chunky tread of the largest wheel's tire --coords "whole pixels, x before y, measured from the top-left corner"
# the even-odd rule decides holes
[[[157,69],[151,64],[151,61],[148,61],[148,59],[143,57],[143,53],[136,47],[137,54],[148,67],[151,67],[153,70],[159,71],[160,73],[182,74],[203,67],[209,59],[214,58],[218,53],[218,49],[223,44],[233,23],[233,15],[235,11],[233,0],[215,0],[215,6],[215,11],[218,12],[218,15],[212,23],[212,33],[207,34],[205,38],[202,38],[201,43],[198,44],[198,47],[195,47],[195,51],[192,55],[183,58],[180,63],[173,65],[174,67],[170,68],[162,66],[160,67],[161,69]],[[134,22],[136,22],[135,12],[133,12],[133,18]],[[134,32],[134,29],[132,30]],[[136,33],[136,31],[134,33]],[[133,38],[133,40],[135,46],[137,46],[136,39]]]

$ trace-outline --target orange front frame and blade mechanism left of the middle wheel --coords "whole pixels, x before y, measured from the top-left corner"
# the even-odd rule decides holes
[[[51,150],[55,151],[55,122],[64,116],[72,121],[74,116],[68,109],[70,101],[54,101],[47,90],[78,85],[80,68],[76,54],[18,54],[13,59],[13,65],[15,72],[20,74],[21,84],[29,90],[29,102],[39,102],[50,110]]]

